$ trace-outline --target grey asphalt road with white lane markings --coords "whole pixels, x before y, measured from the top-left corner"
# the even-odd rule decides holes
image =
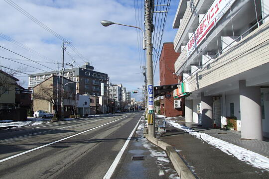
[[[0,178],[102,179],[141,115],[120,113],[1,130]]]

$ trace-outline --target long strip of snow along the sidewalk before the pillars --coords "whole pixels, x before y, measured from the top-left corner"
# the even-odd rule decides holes
[[[221,139],[212,137],[208,134],[197,132],[186,126],[182,126],[172,120],[168,119],[166,121],[173,127],[176,127],[178,129],[184,130],[185,132],[188,132],[190,135],[207,142],[208,144],[220,149],[221,151],[225,152],[228,155],[232,155],[236,157],[237,159],[243,162],[246,162],[247,164],[250,164],[256,168],[265,169],[269,171],[269,158],[265,156],[262,156],[258,153],[244,149],[242,147],[236,146],[229,142],[223,141]]]

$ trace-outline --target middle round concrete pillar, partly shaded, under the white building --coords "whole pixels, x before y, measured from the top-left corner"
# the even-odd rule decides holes
[[[204,96],[201,93],[202,126],[213,127],[213,96]]]

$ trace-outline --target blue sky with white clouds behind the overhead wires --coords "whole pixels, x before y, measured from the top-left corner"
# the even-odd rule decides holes
[[[128,91],[142,87],[140,66],[143,52],[138,46],[141,42],[140,32],[136,32],[135,28],[120,25],[104,27],[100,23],[101,20],[110,20],[141,27],[141,15],[140,22],[137,16],[141,11],[137,7],[143,2],[142,0],[13,0],[13,2],[72,42],[83,56],[80,58],[67,45],[65,63],[70,63],[71,57],[74,57],[78,66],[87,61],[93,64],[96,71],[107,73],[112,84],[123,84]],[[172,23],[178,3],[179,0],[171,0],[162,43],[173,42],[177,29],[172,29]],[[62,41],[13,8],[6,0],[0,1],[0,7],[0,46],[41,64],[0,48],[1,57],[11,58],[26,66],[3,58],[0,58],[0,65],[12,69],[24,67],[27,74],[57,70],[57,62],[62,61]],[[16,46],[10,40],[4,39],[2,35],[29,47],[39,55]],[[46,59],[40,56],[45,56]],[[27,75],[21,74],[17,78],[24,81],[23,87],[28,86]],[[159,85],[158,62],[154,85]],[[138,97],[140,94],[134,95]]]

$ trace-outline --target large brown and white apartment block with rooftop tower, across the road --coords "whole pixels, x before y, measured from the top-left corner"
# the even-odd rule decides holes
[[[42,83],[46,79],[53,75],[61,76],[61,71],[51,71],[44,73],[37,73],[29,75],[28,87],[32,88]],[[92,94],[92,95],[104,95],[107,96],[107,81],[108,74],[94,71],[94,67],[90,63],[86,62],[85,65],[80,67],[65,69],[64,77],[67,79],[78,82],[76,84],[76,92],[79,94]]]

